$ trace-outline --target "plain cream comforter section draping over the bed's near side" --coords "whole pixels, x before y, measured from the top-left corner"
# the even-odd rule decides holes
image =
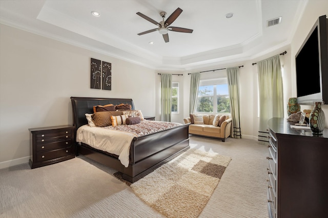
[[[101,127],[84,125],[76,132],[76,141],[89,146],[118,155],[118,159],[125,166],[129,166],[129,152],[132,139],[137,135],[128,132],[108,130]]]

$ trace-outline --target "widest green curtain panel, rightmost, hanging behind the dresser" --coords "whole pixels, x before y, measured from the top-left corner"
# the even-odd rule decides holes
[[[279,55],[257,62],[259,85],[258,141],[267,144],[268,120],[283,117],[283,87]]]

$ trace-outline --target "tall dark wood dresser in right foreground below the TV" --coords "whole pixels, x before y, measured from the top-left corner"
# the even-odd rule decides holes
[[[328,217],[328,129],[312,136],[290,125],[268,122],[269,217]]]

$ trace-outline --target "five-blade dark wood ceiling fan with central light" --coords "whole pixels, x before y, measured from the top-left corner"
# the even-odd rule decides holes
[[[182,9],[181,8],[177,8],[169,17],[168,19],[164,20],[164,18],[166,17],[166,12],[165,11],[162,11],[159,13],[159,15],[163,18],[162,21],[160,22],[157,22],[155,20],[153,20],[152,18],[140,13],[140,12],[137,12],[136,14],[139,15],[140,17],[154,23],[155,25],[158,26],[158,28],[156,29],[152,29],[152,30],[148,30],[148,31],[145,31],[145,32],[142,32],[142,33],[138,33],[138,35],[144,35],[146,33],[151,33],[151,32],[154,32],[156,30],[158,30],[158,32],[160,34],[163,35],[163,38],[164,38],[164,41],[165,42],[169,42],[169,30],[170,31],[175,31],[175,32],[180,32],[180,33],[192,33],[193,30],[191,29],[186,29],[186,28],[181,28],[181,27],[169,27],[173,22],[174,20],[181,14],[182,12]]]

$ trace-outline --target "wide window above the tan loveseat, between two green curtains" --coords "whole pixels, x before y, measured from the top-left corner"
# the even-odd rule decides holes
[[[227,78],[199,81],[196,111],[230,113]]]

